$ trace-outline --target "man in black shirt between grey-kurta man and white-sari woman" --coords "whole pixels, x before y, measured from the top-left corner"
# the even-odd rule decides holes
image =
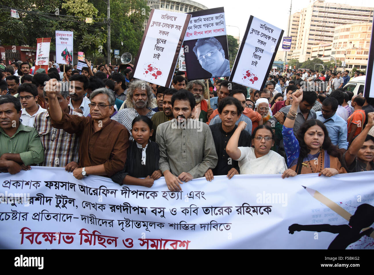
[[[206,171],[206,180],[212,180],[213,175],[227,175],[230,179],[234,175],[239,174],[239,164],[227,155],[226,145],[237,128],[235,122],[239,119],[242,112],[242,104],[234,97],[226,97],[218,104],[218,114],[222,122],[209,125],[214,139],[218,163],[214,169]],[[248,131],[243,130],[240,133],[238,146],[251,146],[251,134]]]

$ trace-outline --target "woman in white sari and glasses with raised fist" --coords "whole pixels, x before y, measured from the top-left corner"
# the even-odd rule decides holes
[[[237,147],[240,132],[246,123],[240,121],[226,146],[226,152],[235,161],[239,161],[240,174],[282,174],[287,165],[285,159],[271,151],[274,134],[267,125],[258,126],[252,133],[252,146]]]

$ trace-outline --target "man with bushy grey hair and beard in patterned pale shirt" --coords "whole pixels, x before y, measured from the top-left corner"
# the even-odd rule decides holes
[[[120,110],[112,119],[125,125],[130,132],[130,140],[132,137],[132,120],[135,117],[142,115],[150,119],[156,113],[152,111],[152,90],[147,82],[142,80],[134,80],[129,83],[127,88],[127,98],[125,101],[127,108]]]

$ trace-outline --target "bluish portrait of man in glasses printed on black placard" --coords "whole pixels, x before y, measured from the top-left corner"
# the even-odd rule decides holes
[[[211,77],[230,76],[229,60],[215,37],[197,39],[193,52],[201,67],[212,74]]]

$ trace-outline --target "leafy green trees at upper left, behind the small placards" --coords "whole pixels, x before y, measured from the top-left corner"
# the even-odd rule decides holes
[[[4,46],[36,47],[36,38],[51,37],[53,50],[56,30],[73,31],[74,52],[83,51],[86,57],[107,56],[106,1],[8,0],[6,5],[17,9],[20,18],[11,18],[10,8],[0,9],[0,37]],[[111,49],[136,56],[149,13],[145,0],[110,0]],[[93,18],[92,23],[86,23],[86,17]],[[100,46],[102,54],[98,51]]]

